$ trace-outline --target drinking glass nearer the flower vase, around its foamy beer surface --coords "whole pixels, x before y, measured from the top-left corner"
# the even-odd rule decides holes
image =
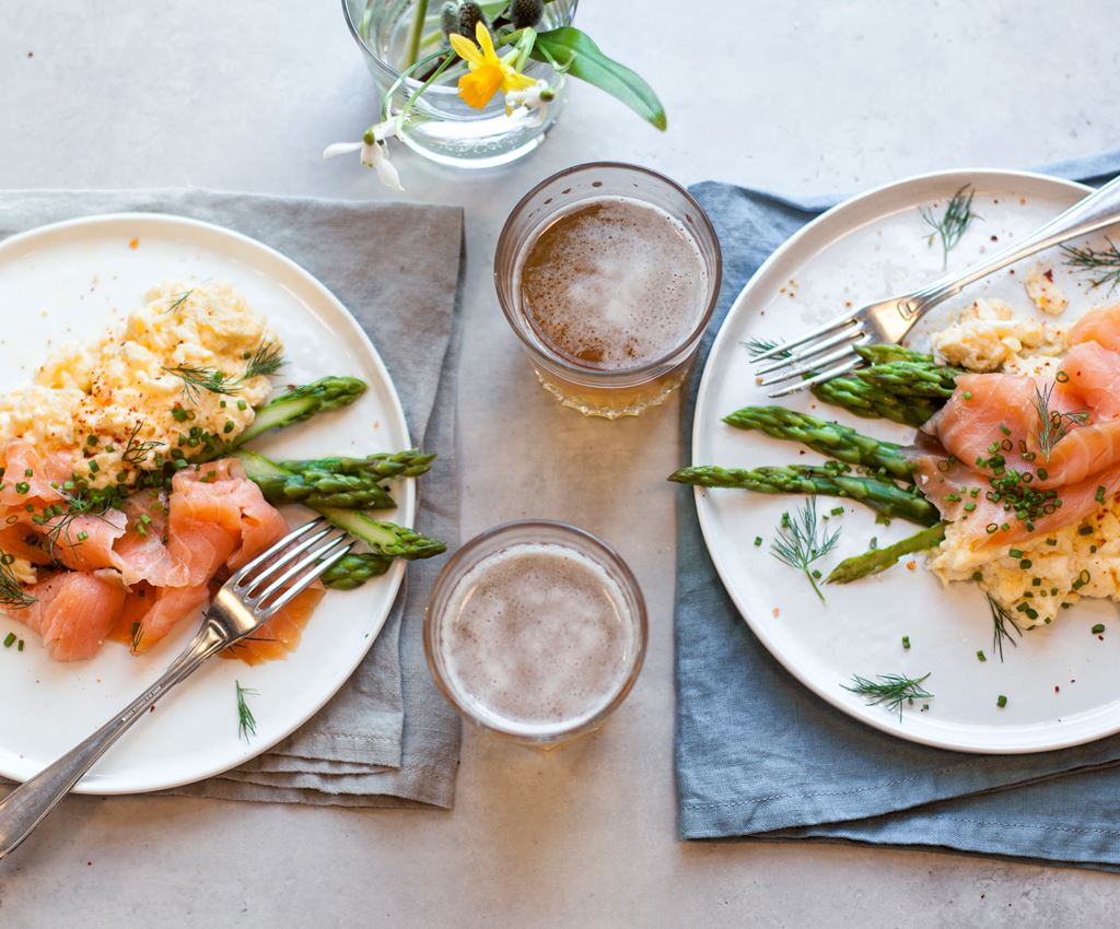
[[[703,311],[693,329],[663,354],[634,367],[601,370],[575,364],[552,350],[536,334],[521,306],[521,265],[538,236],[581,203],[610,197],[655,207],[693,238],[707,272]],[[599,161],[577,165],[541,181],[514,207],[498,237],[494,283],[513,331],[529,353],[541,385],[566,406],[588,416],[636,416],[675,391],[700,346],[711,319],[722,274],[716,231],[689,193],[656,171],[635,165]]]

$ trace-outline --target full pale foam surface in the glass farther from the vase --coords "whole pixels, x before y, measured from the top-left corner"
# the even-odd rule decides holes
[[[460,701],[500,729],[575,728],[623,688],[634,618],[618,583],[586,555],[517,544],[458,582],[439,629]]]

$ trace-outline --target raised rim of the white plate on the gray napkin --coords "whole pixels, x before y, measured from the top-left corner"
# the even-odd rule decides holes
[[[353,313],[346,308],[346,304],[335,295],[323,281],[320,281],[315,274],[308,271],[304,265],[293,259],[288,257],[286,254],[271,245],[267,245],[260,240],[253,238],[250,235],[232,229],[227,226],[222,226],[217,223],[211,223],[205,219],[196,219],[190,216],[181,216],[176,213],[158,213],[151,210],[124,210],[114,213],[99,213],[90,216],[78,216],[69,219],[60,219],[53,223],[46,223],[40,226],[35,226],[29,229],[24,229],[21,232],[15,233],[4,237],[0,241],[0,261],[4,259],[4,253],[12,248],[19,248],[27,244],[28,241],[34,241],[40,236],[57,235],[59,233],[66,233],[69,229],[82,228],[87,226],[99,226],[99,225],[111,225],[119,223],[143,223],[152,225],[164,225],[171,228],[187,228],[202,232],[203,234],[217,236],[220,238],[224,237],[227,240],[233,240],[237,242],[242,247],[248,247],[250,251],[255,251],[258,254],[262,255],[265,260],[272,261],[279,264],[281,268],[287,270],[290,274],[293,274],[296,279],[300,280],[306,287],[314,292],[326,307],[335,312],[351,330],[348,334],[338,334],[340,337],[349,336],[352,339],[356,338],[357,346],[361,348],[362,353],[366,356],[367,360],[372,364],[373,368],[376,370],[377,376],[383,379],[383,386],[388,394],[390,401],[390,409],[386,413],[391,414],[395,424],[401,429],[404,437],[404,441],[408,445],[411,445],[412,437],[409,431],[408,416],[404,414],[404,406],[401,403],[400,393],[396,390],[396,384],[393,382],[392,375],[386,367],[384,359],[377,351],[376,346],[370,338],[365,329],[357,321]],[[142,235],[142,229],[140,232]],[[416,520],[417,508],[418,508],[418,495],[413,482],[407,482],[403,488],[404,494],[398,495],[400,497],[399,503],[399,516],[398,518],[402,525],[411,526]],[[375,631],[371,635],[364,637],[360,640],[361,647],[354,649],[354,660],[344,667],[339,674],[336,682],[332,684],[330,687],[325,688],[326,693],[323,694],[321,700],[312,700],[308,704],[306,713],[297,713],[293,717],[293,723],[290,728],[284,728],[276,738],[261,741],[259,744],[253,743],[252,750],[246,754],[237,756],[230,763],[220,762],[216,767],[209,766],[202,772],[192,772],[187,777],[183,776],[171,776],[165,777],[159,781],[147,781],[142,786],[137,786],[134,782],[130,783],[128,781],[127,775],[115,775],[108,778],[108,782],[97,782],[97,779],[106,778],[104,775],[96,775],[94,780],[91,781],[88,775],[83,776],[83,778],[72,788],[74,794],[84,794],[90,796],[121,796],[129,794],[150,794],[158,790],[168,790],[176,787],[183,787],[188,783],[197,783],[199,781],[207,780],[213,777],[231,771],[234,768],[251,761],[254,758],[263,754],[270,749],[274,748],[277,744],[282,742],[293,732],[296,732],[300,726],[307,723],[316,713],[318,713],[332,698],[342,689],[347,681],[353,677],[354,672],[357,669],[358,665],[368,655],[370,649],[373,648],[374,642],[380,637],[385,623],[392,613],[396,600],[400,595],[401,585],[404,581],[405,563],[401,559],[394,560],[395,563],[390,569],[389,573],[383,575],[384,581],[389,584],[390,591],[386,598],[386,607],[383,614],[377,619],[373,626]],[[0,777],[8,778],[17,783],[22,782],[20,778],[16,775],[0,771]],[[34,777],[34,775],[32,775]],[[120,783],[114,783],[114,780],[120,781]]]

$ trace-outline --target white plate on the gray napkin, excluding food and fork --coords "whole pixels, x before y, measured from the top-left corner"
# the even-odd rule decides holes
[[[137,240],[138,247],[130,247]],[[400,400],[376,350],[342,303],[278,252],[217,226],[172,216],[123,214],[46,226],[0,244],[0,390],[28,379],[53,345],[100,335],[167,279],[230,281],[283,338],[283,381],[354,375],[370,385],[354,405],[254,443],[268,454],[366,454],[409,448]],[[386,518],[411,524],[414,490],[394,490]],[[298,518],[299,510],[291,516]],[[404,566],[356,591],[329,591],[287,660],[249,667],[215,659],[200,668],[86,775],[85,794],[157,790],[240,764],[295,731],[365,656],[389,616]],[[52,661],[37,637],[0,617],[25,650],[0,648],[0,775],[25,780],[72,748],[155,681],[197,628],[184,621],[151,651],[132,657],[109,642],[88,661]],[[256,735],[239,739],[234,681],[249,698]]]

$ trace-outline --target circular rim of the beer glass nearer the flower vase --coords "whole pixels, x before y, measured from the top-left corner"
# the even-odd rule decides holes
[[[345,2],[345,0],[343,0]],[[698,222],[704,235],[710,236],[712,244],[715,245],[715,262],[711,274],[711,295],[708,298],[708,306],[704,308],[700,321],[697,326],[689,332],[688,337],[682,339],[679,345],[674,346],[672,349],[666,351],[664,355],[660,355],[651,362],[645,362],[642,365],[633,368],[622,368],[619,370],[597,370],[595,368],[580,367],[567,358],[562,357],[560,354],[549,350],[542,350],[541,346],[529,339],[524,331],[520,320],[516,318],[513,309],[506,306],[506,301],[502,299],[502,289],[497,287],[498,281],[498,255],[502,252],[502,246],[507,242],[511,235],[510,228],[513,225],[513,220],[523,210],[529,207],[530,201],[540,194],[545,187],[554,181],[561,180],[577,172],[588,171],[597,168],[608,168],[608,169],[622,169],[626,171],[637,171],[638,173],[646,175],[656,181],[660,181],[673,190],[675,190],[684,200],[692,206],[697,216]],[[641,197],[631,197],[638,203],[643,203]],[[577,201],[578,203],[578,201]],[[517,338],[521,339],[522,344],[534,355],[541,355],[548,359],[549,364],[556,365],[561,368],[566,374],[573,375],[573,379],[577,382],[584,379],[596,381],[596,379],[617,379],[619,376],[625,377],[640,377],[645,374],[651,374],[661,367],[674,362],[676,357],[690,345],[699,342],[700,338],[703,336],[704,330],[708,328],[708,323],[711,322],[712,313],[716,311],[716,304],[719,302],[719,292],[722,289],[724,283],[724,254],[719,245],[719,236],[716,235],[716,227],[711,224],[711,218],[708,216],[704,208],[700,206],[700,203],[693,197],[682,185],[678,184],[671,177],[668,177],[661,171],[655,171],[652,168],[645,168],[641,165],[631,165],[626,161],[584,161],[579,165],[572,165],[564,168],[561,171],[557,171],[554,175],[550,175],[544,178],[544,180],[534,185],[529,193],[526,193],[520,200],[517,200],[516,206],[510,212],[510,215],[505,219],[505,224],[502,226],[502,232],[498,234],[497,243],[494,247],[494,283],[497,290],[497,302],[502,306],[502,312],[505,315],[506,322],[510,323],[510,328],[516,334]],[[532,327],[525,327],[532,328]]]

